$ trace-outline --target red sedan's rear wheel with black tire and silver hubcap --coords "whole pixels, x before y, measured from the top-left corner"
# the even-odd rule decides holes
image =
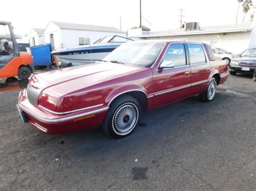
[[[213,83],[214,83],[214,87],[213,87]],[[217,81],[214,77],[212,77],[211,81],[208,83],[207,88],[203,91],[203,93],[199,94],[200,100],[203,102],[212,101],[216,94],[216,90],[217,90]]]

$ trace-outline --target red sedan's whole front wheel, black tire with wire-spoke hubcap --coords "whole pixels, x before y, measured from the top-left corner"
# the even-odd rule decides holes
[[[126,114],[122,114],[124,109],[130,109],[132,110],[132,113],[128,112],[127,114],[126,112]],[[140,104],[136,98],[130,95],[119,96],[110,104],[102,129],[107,136],[112,138],[123,138],[129,136],[136,129],[141,112]],[[120,115],[122,115],[122,117],[120,117]],[[120,123],[121,125],[128,125],[127,128],[122,130],[123,132],[119,131],[121,128],[118,129],[118,125],[120,127]]]

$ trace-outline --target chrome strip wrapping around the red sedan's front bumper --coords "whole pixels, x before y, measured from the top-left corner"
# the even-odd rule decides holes
[[[79,118],[79,117],[85,117],[85,116],[89,116],[89,115],[93,115],[93,114],[98,114],[99,112],[103,112],[103,111],[106,111],[106,110],[109,109],[109,107],[105,107],[105,108],[102,108],[102,109],[85,112],[84,114],[78,114],[78,115],[69,116],[69,117],[63,117],[63,118],[59,118],[59,119],[45,119],[43,117],[40,117],[40,116],[34,114],[32,111],[24,108],[23,105],[21,105],[21,104],[18,104],[18,107],[20,109],[22,109],[23,111],[27,112],[29,115],[35,117],[36,119],[38,119],[39,121],[44,122],[44,123],[60,123],[60,122],[65,122],[65,121],[69,121],[69,120],[76,119],[76,118]]]

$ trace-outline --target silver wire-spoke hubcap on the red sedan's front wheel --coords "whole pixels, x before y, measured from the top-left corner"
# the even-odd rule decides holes
[[[119,135],[130,133],[138,122],[138,109],[133,103],[121,105],[113,116],[113,129]]]

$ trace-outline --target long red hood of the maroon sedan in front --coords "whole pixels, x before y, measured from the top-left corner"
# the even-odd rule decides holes
[[[58,87],[67,93],[93,86],[101,82],[116,79],[124,75],[148,69],[112,62],[95,62],[88,65],[53,70],[37,74],[38,81],[45,81],[45,89],[51,86]]]

